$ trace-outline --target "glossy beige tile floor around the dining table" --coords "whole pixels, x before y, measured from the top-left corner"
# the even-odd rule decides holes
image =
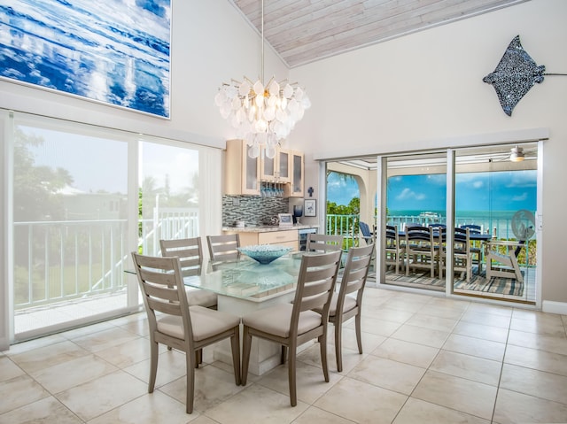
[[[330,341],[330,382],[318,346],[301,352],[296,407],[284,366],[237,387],[210,349],[191,415],[183,353],[160,351],[148,394],[138,313],[1,352],[0,423],[567,422],[567,316],[372,287],[364,296],[364,353],[353,320],[342,373]]]

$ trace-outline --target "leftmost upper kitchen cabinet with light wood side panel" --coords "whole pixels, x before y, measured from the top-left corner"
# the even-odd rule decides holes
[[[244,140],[228,140],[225,164],[227,195],[260,196],[260,157],[250,158]]]

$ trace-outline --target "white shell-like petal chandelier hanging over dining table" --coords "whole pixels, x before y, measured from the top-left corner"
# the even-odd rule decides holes
[[[276,156],[276,146],[303,118],[311,106],[309,97],[297,82],[276,81],[272,77],[264,84],[264,1],[261,12],[261,76],[258,81],[244,77],[243,81],[231,80],[222,83],[214,103],[221,116],[227,119],[237,132],[237,138],[251,146],[248,155],[260,156],[264,147],[268,158]]]

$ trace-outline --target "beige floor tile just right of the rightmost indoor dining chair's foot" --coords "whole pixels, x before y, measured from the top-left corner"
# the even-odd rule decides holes
[[[427,368],[439,353],[438,348],[389,338],[370,354],[404,364]]]

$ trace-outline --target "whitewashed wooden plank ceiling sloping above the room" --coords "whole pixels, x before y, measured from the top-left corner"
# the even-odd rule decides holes
[[[289,67],[529,0],[264,0],[264,37]],[[229,0],[261,34],[262,0]]]

